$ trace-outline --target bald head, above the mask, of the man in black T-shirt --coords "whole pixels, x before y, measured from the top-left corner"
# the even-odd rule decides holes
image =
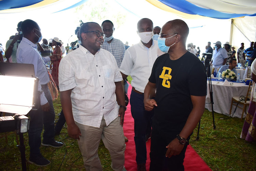
[[[181,35],[181,41],[186,43],[189,29],[187,24],[183,20],[181,19],[171,20],[167,22],[165,25],[163,25],[162,29],[164,27],[167,28],[165,29],[167,30],[167,32],[163,34],[179,33]]]

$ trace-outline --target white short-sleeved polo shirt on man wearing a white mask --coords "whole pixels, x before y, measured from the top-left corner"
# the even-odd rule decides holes
[[[150,48],[144,46],[140,41],[125,51],[120,71],[125,75],[131,75],[131,86],[144,93],[154,62],[162,54],[165,53],[159,49],[156,40],[153,40]]]

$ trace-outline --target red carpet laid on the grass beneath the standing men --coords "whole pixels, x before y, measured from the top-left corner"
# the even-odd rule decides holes
[[[131,94],[131,86],[128,88],[128,97],[130,99]],[[127,110],[125,112],[125,121],[124,121],[124,135],[128,138],[128,142],[126,142],[126,150],[125,150],[125,168],[127,171],[137,171],[137,163],[136,163],[136,150],[135,150],[135,142],[134,142],[134,120],[131,116],[131,106],[130,103],[127,106]],[[147,162],[146,169],[150,168],[150,142],[149,139],[146,143],[147,146]],[[196,151],[188,145],[185,159],[184,159],[184,167],[185,171],[211,171],[211,169],[207,166],[207,164],[203,161],[203,159],[196,153]]]

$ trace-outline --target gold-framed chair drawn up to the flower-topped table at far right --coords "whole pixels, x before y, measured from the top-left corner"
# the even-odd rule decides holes
[[[232,100],[231,100],[231,106],[230,106],[229,115],[231,114],[232,105],[235,105],[235,106],[236,106],[237,103],[243,105],[243,108],[241,108],[239,105],[237,106],[238,108],[240,108],[240,109],[243,110],[243,113],[242,113],[242,116],[241,116],[241,121],[242,121],[242,119],[243,119],[244,113],[246,112],[247,106],[250,104],[250,97],[251,97],[251,90],[252,90],[251,85],[252,85],[252,82],[250,82],[250,84],[249,84],[249,87],[248,87],[248,90],[247,90],[247,94],[246,94],[246,96],[245,96],[244,101],[239,101],[239,97],[240,97],[240,96],[233,96],[233,97],[232,97]]]

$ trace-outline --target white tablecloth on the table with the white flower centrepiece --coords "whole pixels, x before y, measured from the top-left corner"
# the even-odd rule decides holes
[[[223,82],[220,81],[218,84],[216,84],[217,81],[212,81],[212,91],[213,91],[213,111],[217,113],[222,113],[224,115],[229,115],[230,105],[231,105],[231,99],[233,96],[246,96],[248,85],[245,85],[245,83],[233,83],[231,86],[228,85],[222,85]],[[232,83],[232,82],[230,82]],[[207,81],[207,96],[206,96],[206,102],[210,102],[210,93],[209,93],[209,82]],[[242,107],[241,104],[239,106]],[[210,112],[212,111],[211,104],[205,104],[205,108],[208,109]],[[235,105],[232,106],[231,113],[236,108]],[[248,110],[248,106],[246,109],[246,113]],[[234,113],[233,117],[241,118],[242,116],[242,110],[240,108],[237,108],[236,112]],[[246,114],[243,115],[245,117]]]

